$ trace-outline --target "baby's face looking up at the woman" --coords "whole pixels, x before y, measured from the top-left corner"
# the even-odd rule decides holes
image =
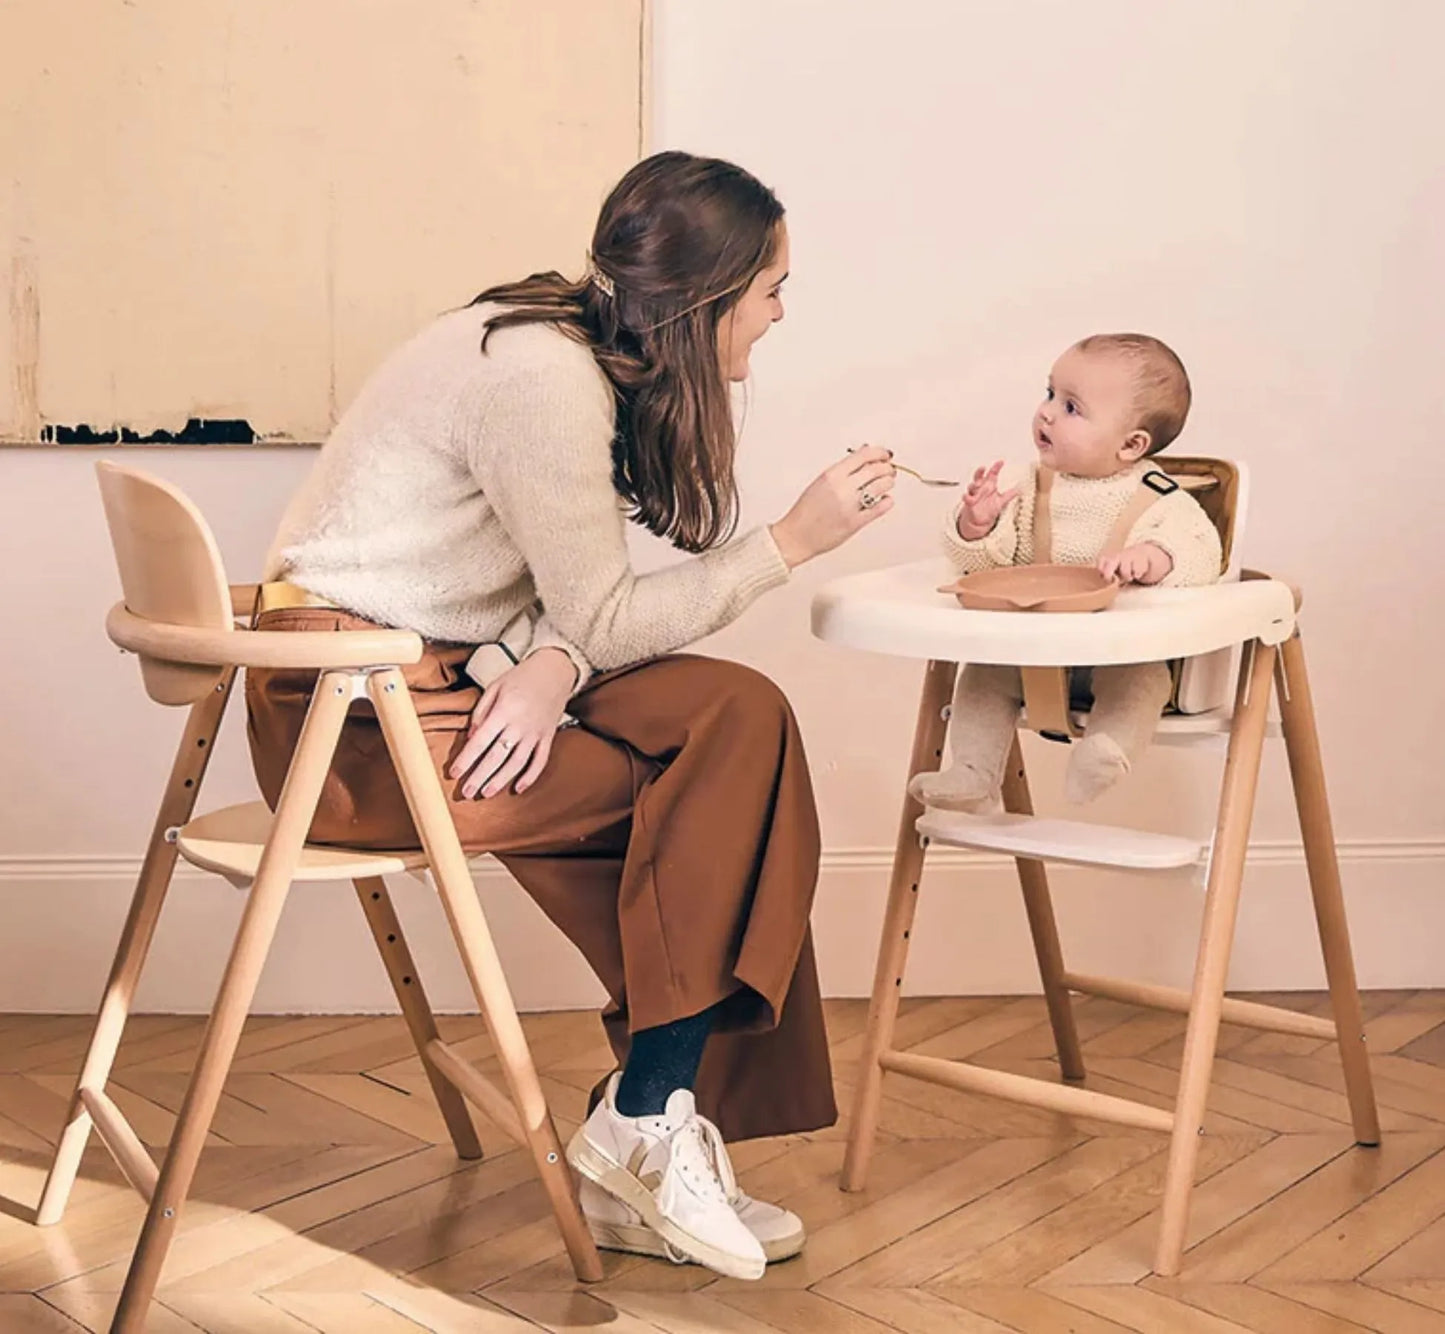
[[[1046,468],[1111,477],[1143,452],[1130,445],[1136,425],[1129,361],[1071,347],[1053,363],[1049,387],[1033,413],[1033,444]]]

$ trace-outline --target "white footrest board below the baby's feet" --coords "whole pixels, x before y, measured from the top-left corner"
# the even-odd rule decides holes
[[[1117,825],[1039,815],[965,815],[925,811],[916,825],[932,843],[1078,866],[1124,870],[1172,870],[1195,866],[1208,844],[1172,834],[1149,834]]]

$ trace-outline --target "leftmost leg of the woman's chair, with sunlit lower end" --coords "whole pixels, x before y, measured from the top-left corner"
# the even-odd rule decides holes
[[[136,880],[130,912],[120,932],[120,944],[116,947],[116,960],[105,983],[100,1013],[95,1016],[95,1028],[91,1030],[85,1061],[81,1065],[79,1078],[75,1081],[75,1093],[71,1094],[65,1129],[61,1132],[51,1172],[40,1191],[35,1221],[42,1227],[61,1221],[65,1204],[71,1197],[71,1188],[75,1185],[75,1175],[79,1171],[91,1132],[91,1114],[85,1109],[81,1094],[82,1090],[104,1090],[105,1081],[110,1078],[110,1068],[126,1030],[126,1020],[130,1017],[130,1002],[136,994],[136,984],[146,964],[146,954],[150,950],[156,922],[160,918],[166,892],[171,889],[171,876],[175,872],[176,847],[166,840],[166,830],[185,824],[195,809],[195,798],[201,791],[201,779],[205,778],[207,765],[211,762],[215,733],[220,730],[221,717],[231,698],[234,679],[236,669],[230,668],[217,682],[215,689],[191,707],[191,714],[186,718],[181,747],[171,767],[171,779],[166,782],[160,809],[156,812],[156,822],[150,831],[150,841],[146,844],[146,859]]]

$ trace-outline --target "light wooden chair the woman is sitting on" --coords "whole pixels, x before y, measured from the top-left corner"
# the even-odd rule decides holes
[[[601,1279],[601,1263],[477,900],[467,854],[399,669],[420,658],[420,637],[409,630],[238,627],[237,620],[244,626],[251,617],[257,588],[227,584],[215,541],[197,507],[169,483],[133,468],[101,462],[97,471],[124,590],[124,601],[107,617],[107,633],[121,649],[139,655],[152,700],[189,705],[191,715],[36,1221],[61,1220],[94,1127],[121,1172],[150,1202],[110,1327],[113,1334],[142,1330],[286,895],[293,882],[351,880],[457,1153],[481,1156],[462,1101],[465,1094],[530,1149],[577,1276]],[[319,676],[275,817],[262,802],[250,802],[192,819],[238,668],[315,668]],[[370,700],[376,708],[420,834],[422,848],[416,851],[374,853],[305,841],[337,739],[355,700]],[[158,1171],[105,1093],[105,1083],[178,854],[246,887],[247,902],[185,1103]],[[447,909],[501,1062],[506,1091],[438,1036],[383,879],[422,869],[431,870]]]

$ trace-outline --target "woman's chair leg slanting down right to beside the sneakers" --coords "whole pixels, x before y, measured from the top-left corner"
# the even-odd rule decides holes
[[[501,960],[497,957],[487,918],[477,899],[477,887],[467,866],[467,854],[457,837],[457,825],[452,824],[447,798],[436,782],[436,770],[432,767],[432,757],[406,682],[399,671],[390,668],[370,678],[367,694],[376,705],[402,791],[406,793],[406,804],[420,834],[422,847],[426,848],[436,892],[447,909],[462,964],[491,1032],[507,1091],[522,1122],[522,1132],[536,1162],[542,1188],[551,1200],[562,1243],[572,1259],[572,1269],[582,1282],[598,1282],[603,1278],[603,1262],[578,1205],[577,1187],[562,1156],[562,1142],[558,1139],[536,1067],[532,1064],[526,1033],[522,1030],[512,990],[501,971]]]

